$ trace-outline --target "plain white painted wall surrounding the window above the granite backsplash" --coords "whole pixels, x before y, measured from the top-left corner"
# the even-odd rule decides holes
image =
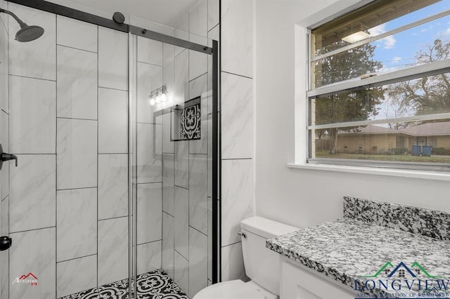
[[[450,211],[449,182],[286,166],[295,159],[295,112],[305,113],[306,107],[302,88],[295,106],[295,88],[304,82],[295,77],[295,67],[304,74],[306,53],[301,48],[306,39],[300,35],[296,50],[294,24],[305,18],[319,21],[356,2],[256,1],[257,215],[297,227],[315,225],[342,216],[345,195]]]

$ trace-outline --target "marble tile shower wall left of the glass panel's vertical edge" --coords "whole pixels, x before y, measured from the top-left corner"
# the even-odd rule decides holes
[[[1,91],[8,84],[9,107],[2,95],[1,143],[18,155],[18,167],[1,171],[1,206],[9,211],[2,234],[13,239],[2,288],[9,286],[9,298],[59,298],[127,278],[128,35],[8,9],[45,33],[30,43],[6,36],[5,71],[4,27],[15,32],[18,24],[2,15]],[[29,272],[37,286],[11,285]]]

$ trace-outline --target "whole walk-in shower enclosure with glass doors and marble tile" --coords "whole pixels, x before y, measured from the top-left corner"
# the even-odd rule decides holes
[[[17,157],[0,170],[0,299],[217,282],[217,41],[40,0],[0,8],[45,29],[20,43],[0,14],[0,143]]]

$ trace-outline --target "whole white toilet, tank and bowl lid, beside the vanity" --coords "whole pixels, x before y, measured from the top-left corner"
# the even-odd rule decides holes
[[[276,299],[280,295],[279,254],[266,248],[266,239],[299,230],[297,227],[262,217],[240,222],[245,274],[240,279],[213,284],[198,292],[193,299]]]

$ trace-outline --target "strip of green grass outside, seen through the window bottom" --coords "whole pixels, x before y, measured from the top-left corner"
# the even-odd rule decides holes
[[[399,162],[425,162],[425,163],[450,163],[450,156],[417,157],[411,154],[330,154],[329,151],[316,152],[316,158],[332,159],[359,159],[376,161],[399,161]]]

